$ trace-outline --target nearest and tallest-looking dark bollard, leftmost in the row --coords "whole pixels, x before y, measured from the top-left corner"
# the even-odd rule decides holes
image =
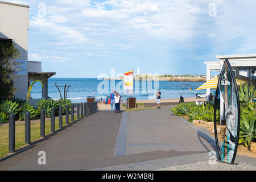
[[[15,114],[9,115],[9,153],[15,152]]]

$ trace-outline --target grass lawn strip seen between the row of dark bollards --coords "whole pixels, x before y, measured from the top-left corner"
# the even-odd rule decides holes
[[[74,120],[76,121],[76,115]],[[63,127],[65,124],[65,117],[62,120]],[[69,123],[71,123],[71,117],[69,117]],[[40,139],[40,121],[31,123],[31,143]],[[55,131],[59,130],[59,119],[55,119]],[[46,121],[46,134],[51,133],[51,121]],[[0,159],[7,155],[9,152],[9,125],[0,126]],[[15,150],[26,146],[25,144],[25,124],[15,125]]]

